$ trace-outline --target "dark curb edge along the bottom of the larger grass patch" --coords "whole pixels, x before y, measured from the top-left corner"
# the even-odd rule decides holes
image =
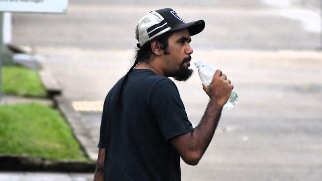
[[[21,155],[0,154],[1,171],[81,172],[95,171],[94,162],[72,160],[46,160]]]

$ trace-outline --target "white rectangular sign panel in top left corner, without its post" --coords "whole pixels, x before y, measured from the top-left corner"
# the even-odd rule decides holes
[[[0,0],[0,12],[65,13],[68,0]]]

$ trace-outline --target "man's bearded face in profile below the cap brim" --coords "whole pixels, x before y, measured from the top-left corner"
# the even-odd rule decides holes
[[[189,69],[193,49],[189,43],[191,41],[188,29],[174,32],[168,39],[168,53],[164,54],[166,77],[173,77],[177,81],[186,81],[193,73]]]

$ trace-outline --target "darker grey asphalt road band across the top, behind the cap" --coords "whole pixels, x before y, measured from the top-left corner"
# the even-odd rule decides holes
[[[172,7],[186,21],[204,19],[192,45],[202,49],[321,48],[318,0],[70,1],[66,15],[15,14],[13,43],[32,46],[134,48],[147,12]],[[310,3],[309,3],[309,2]],[[289,2],[289,3],[287,3]],[[158,5],[156,5],[158,4]]]

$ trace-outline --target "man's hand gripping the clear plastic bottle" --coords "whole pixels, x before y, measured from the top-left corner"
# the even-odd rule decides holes
[[[227,102],[233,88],[234,86],[230,84],[230,80],[220,70],[215,71],[209,87],[203,84],[203,89],[208,96],[218,102],[219,105],[224,105]]]

